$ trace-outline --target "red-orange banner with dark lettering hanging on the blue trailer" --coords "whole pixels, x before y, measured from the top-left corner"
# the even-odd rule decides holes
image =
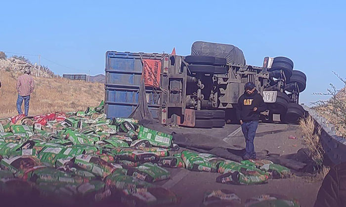
[[[143,76],[145,86],[160,88],[161,60],[143,60]]]

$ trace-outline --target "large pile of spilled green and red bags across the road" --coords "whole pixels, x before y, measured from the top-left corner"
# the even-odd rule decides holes
[[[216,182],[244,185],[291,174],[266,160],[237,163],[180,150],[172,135],[138,120],[107,119],[103,102],[86,111],[0,119],[0,195],[27,192],[31,200],[63,205],[176,204],[172,191],[153,184],[170,178],[165,168],[220,173]]]

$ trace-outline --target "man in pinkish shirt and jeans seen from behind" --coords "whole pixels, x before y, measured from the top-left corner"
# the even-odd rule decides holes
[[[17,99],[18,114],[23,114],[22,103],[24,100],[24,109],[25,109],[24,112],[25,112],[25,116],[28,116],[30,94],[33,93],[35,88],[34,79],[30,75],[29,68],[24,69],[24,74],[18,77],[16,88],[18,91],[18,99]]]

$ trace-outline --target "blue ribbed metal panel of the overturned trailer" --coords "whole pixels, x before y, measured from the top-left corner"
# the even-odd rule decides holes
[[[161,60],[162,54],[141,53],[143,59]],[[139,53],[106,53],[105,104],[107,118],[128,117],[138,104],[142,75]],[[159,118],[160,93],[146,88],[148,106],[154,118]]]

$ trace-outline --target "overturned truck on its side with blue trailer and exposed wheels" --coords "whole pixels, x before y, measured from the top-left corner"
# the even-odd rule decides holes
[[[253,82],[269,110],[262,121],[297,123],[304,109],[299,93],[306,76],[286,57],[265,57],[261,67],[246,65],[243,52],[229,44],[194,42],[191,55],[106,52],[105,104],[108,118],[128,117],[137,106],[141,80],[148,108],[161,124],[223,127],[236,121],[244,85]]]

